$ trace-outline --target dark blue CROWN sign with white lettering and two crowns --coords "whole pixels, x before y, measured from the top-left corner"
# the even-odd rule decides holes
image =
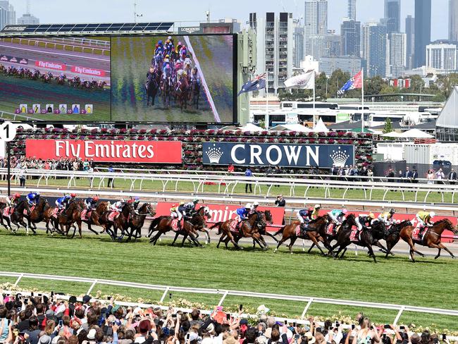
[[[332,167],[354,164],[354,145],[204,142],[204,164]]]

